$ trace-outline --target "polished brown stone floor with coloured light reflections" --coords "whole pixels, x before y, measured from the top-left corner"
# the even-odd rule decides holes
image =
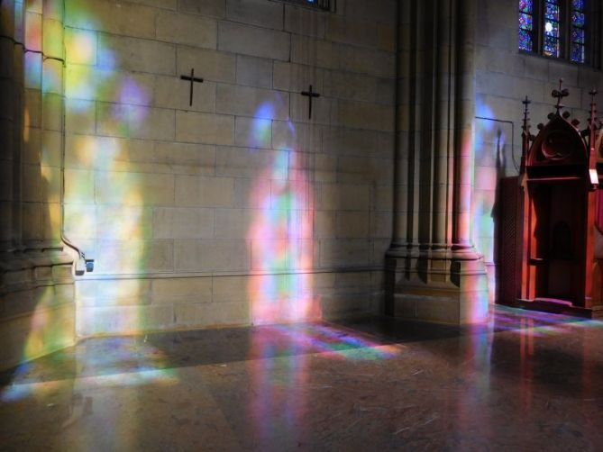
[[[603,448],[603,322],[502,307],[88,339],[1,378],[0,450]]]

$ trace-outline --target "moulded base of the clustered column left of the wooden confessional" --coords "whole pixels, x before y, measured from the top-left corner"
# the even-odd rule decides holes
[[[386,313],[463,325],[488,321],[488,276],[475,252],[428,250],[386,258]]]

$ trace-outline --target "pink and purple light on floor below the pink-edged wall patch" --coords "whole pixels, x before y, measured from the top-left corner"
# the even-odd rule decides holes
[[[308,389],[320,385],[315,381],[314,365],[321,358],[375,361],[397,357],[404,349],[323,323],[270,325],[258,331],[251,336],[247,365],[251,375],[249,418],[255,424],[254,439],[266,450],[272,447],[270,438],[275,433],[295,438],[306,425],[306,412],[312,409]],[[280,410],[278,415],[275,410]]]

